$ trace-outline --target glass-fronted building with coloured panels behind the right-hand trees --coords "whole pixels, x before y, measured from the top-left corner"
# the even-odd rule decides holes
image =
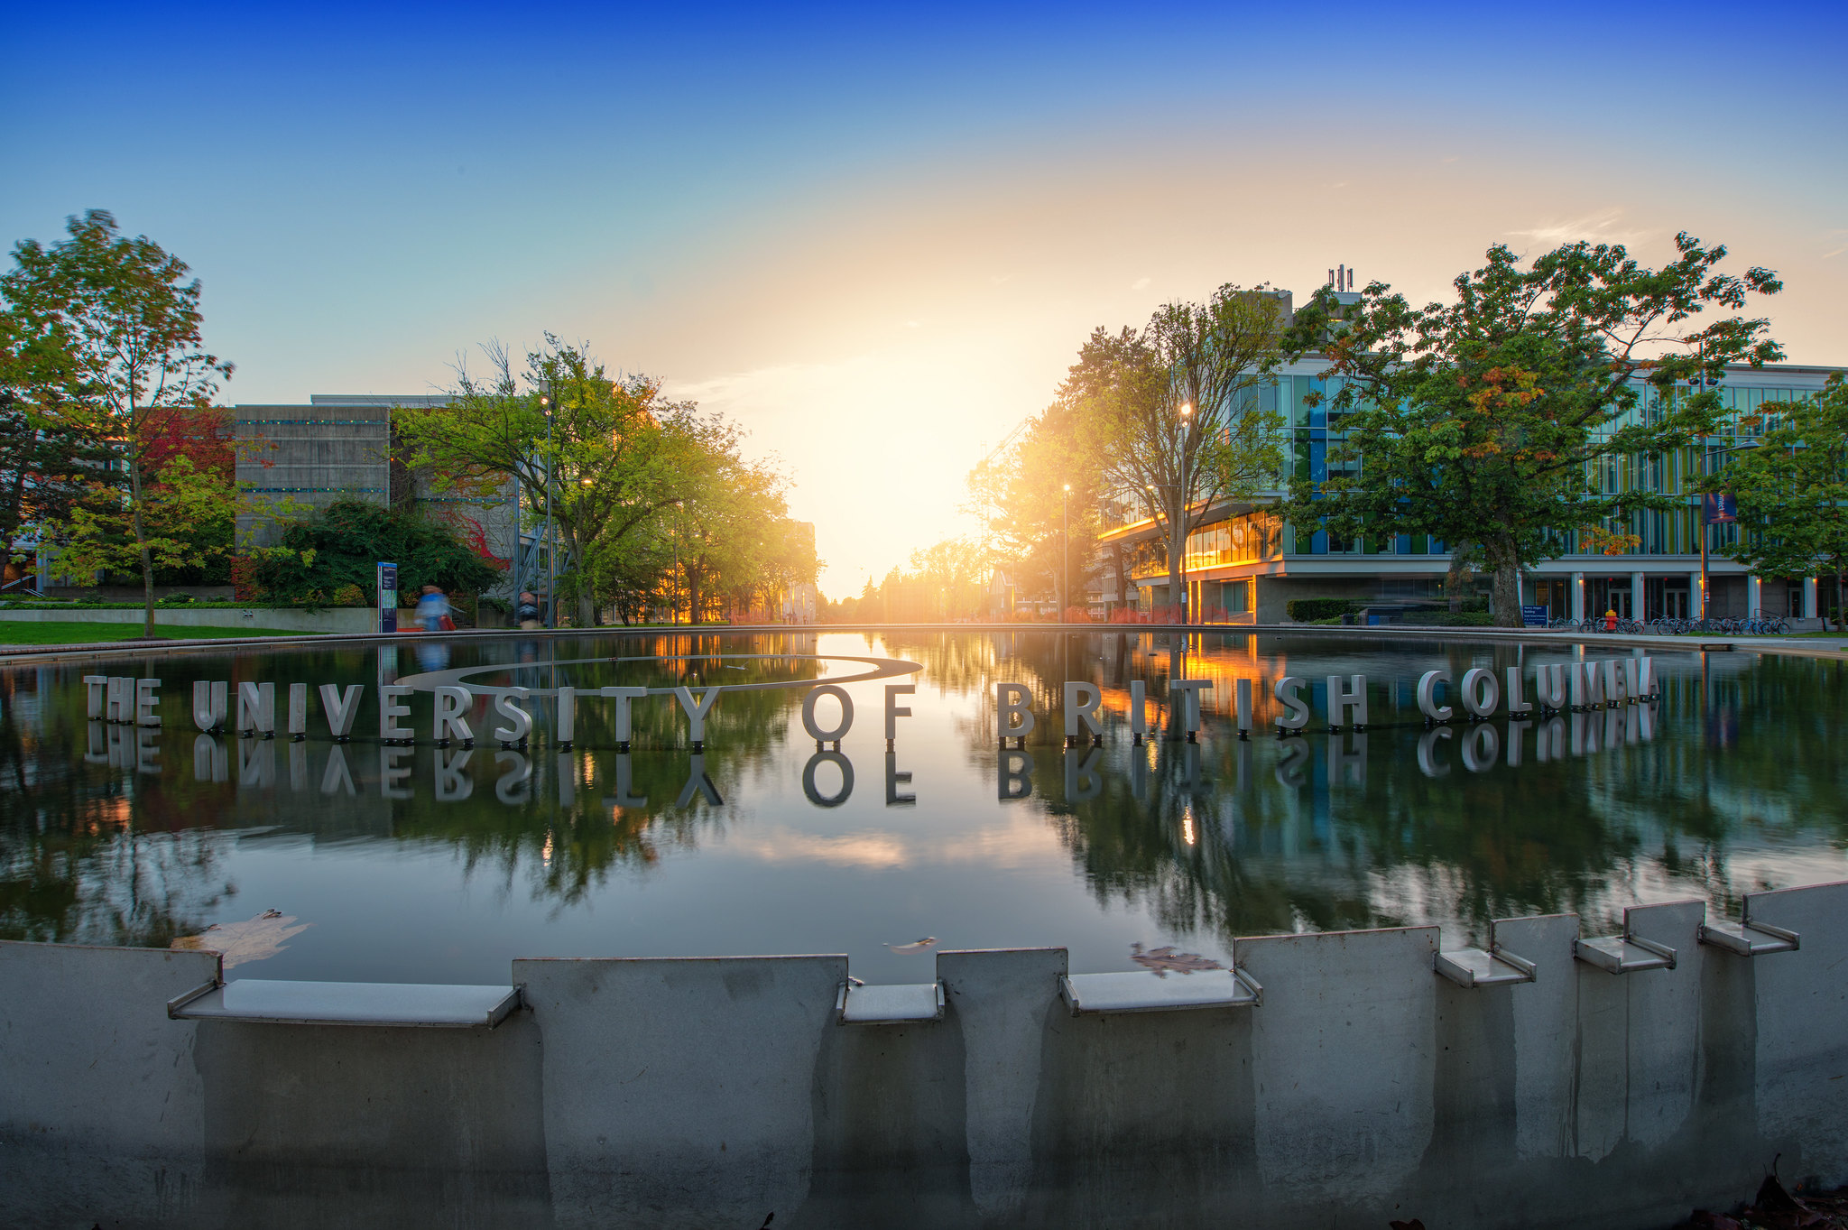
[[[1358,299],[1342,292],[1342,299]],[[1329,362],[1307,356],[1284,368],[1273,384],[1258,392],[1264,410],[1284,416],[1284,465],[1295,478],[1321,482],[1329,476],[1329,445],[1340,430],[1329,427],[1327,404],[1310,406],[1312,393],[1332,393],[1325,373]],[[1835,368],[1732,368],[1724,397],[1730,412],[1745,416],[1765,403],[1794,401],[1818,392]],[[1635,414],[1663,410],[1661,395],[1643,388]],[[1621,427],[1621,425],[1613,425]],[[1639,512],[1628,525],[1613,526],[1635,534],[1639,545],[1621,556],[1599,554],[1576,528],[1563,526],[1565,550],[1538,565],[1521,584],[1521,600],[1543,604],[1554,617],[1584,619],[1615,609],[1623,617],[1696,615],[1700,593],[1700,539],[1695,525],[1700,497],[1695,480],[1706,467],[1717,467],[1720,454],[1750,443],[1750,436],[1715,436],[1706,451],[1682,449],[1671,456],[1613,458],[1586,475],[1586,489],[1597,493],[1661,491],[1684,497],[1672,512]],[[1283,622],[1290,598],[1355,598],[1362,602],[1436,602],[1445,598],[1449,543],[1427,536],[1366,536],[1332,539],[1327,532],[1299,536],[1284,525],[1275,504],[1281,482],[1249,502],[1220,500],[1186,541],[1186,606],[1192,619],[1207,622]],[[1144,517],[1140,504],[1116,504],[1116,523],[1105,543],[1120,543],[1129,560],[1129,574],[1144,611],[1172,608],[1164,532]],[[1759,580],[1745,567],[1719,556],[1733,541],[1735,526],[1708,528],[1709,574],[1713,578],[1711,615],[1817,615],[1815,578]],[[1473,597],[1473,595],[1471,595]]]

